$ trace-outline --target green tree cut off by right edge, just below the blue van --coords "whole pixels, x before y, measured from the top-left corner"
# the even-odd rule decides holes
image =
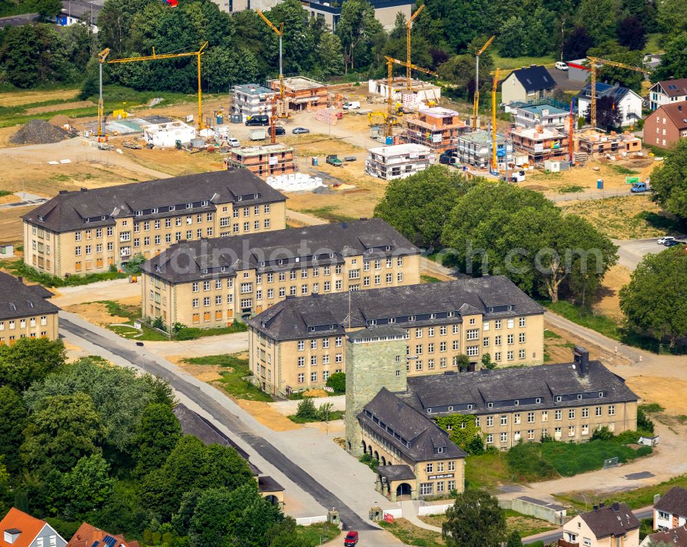
[[[687,219],[687,139],[680,139],[651,172],[654,199],[666,211]],[[1,356],[1,354],[0,354]]]

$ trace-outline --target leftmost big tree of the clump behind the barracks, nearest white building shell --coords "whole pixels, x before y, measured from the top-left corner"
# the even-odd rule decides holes
[[[391,181],[374,208],[374,216],[383,218],[416,245],[436,246],[451,207],[474,184],[443,165],[433,165]]]

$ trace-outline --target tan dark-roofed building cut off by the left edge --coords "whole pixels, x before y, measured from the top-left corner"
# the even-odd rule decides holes
[[[49,302],[52,292],[40,285],[25,285],[21,277],[0,272],[0,345],[20,338],[58,335],[58,308]]]

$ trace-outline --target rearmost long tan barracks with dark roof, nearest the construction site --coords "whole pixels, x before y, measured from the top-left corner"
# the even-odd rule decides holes
[[[22,217],[25,262],[59,277],[107,272],[182,240],[282,230],[285,202],[244,169],[60,190]]]

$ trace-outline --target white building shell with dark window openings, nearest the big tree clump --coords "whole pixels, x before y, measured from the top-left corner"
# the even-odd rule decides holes
[[[368,150],[365,172],[392,181],[423,171],[434,161],[434,154],[427,146],[419,144],[396,144],[379,146]]]

